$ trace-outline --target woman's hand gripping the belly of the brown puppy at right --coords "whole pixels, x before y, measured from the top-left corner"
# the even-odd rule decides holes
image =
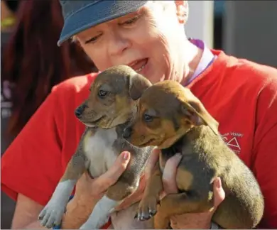
[[[165,193],[177,193],[176,172],[180,162],[180,154],[174,155],[165,164],[163,171],[163,188]],[[203,212],[199,214],[182,214],[171,218],[171,227],[173,229],[210,229],[212,214],[216,207],[225,198],[225,192],[222,189],[221,180],[217,177],[214,180],[214,209],[211,212]]]

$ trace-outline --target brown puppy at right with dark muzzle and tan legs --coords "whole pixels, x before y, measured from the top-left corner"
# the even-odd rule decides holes
[[[153,84],[139,99],[134,123],[124,137],[135,146],[161,148],[156,172],[146,185],[139,204],[138,218],[155,216],[155,228],[165,229],[173,214],[206,212],[213,208],[215,177],[226,192],[212,221],[224,229],[254,228],[264,212],[264,197],[254,175],[228,148],[218,133],[218,123],[190,89],[178,82]],[[161,200],[161,171],[165,162],[181,153],[176,182],[179,193]]]

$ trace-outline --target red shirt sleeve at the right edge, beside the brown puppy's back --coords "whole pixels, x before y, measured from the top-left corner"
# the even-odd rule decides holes
[[[261,90],[256,109],[253,171],[265,199],[259,228],[277,229],[277,79]]]

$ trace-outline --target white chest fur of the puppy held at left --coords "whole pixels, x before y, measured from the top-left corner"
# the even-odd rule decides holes
[[[84,146],[88,160],[88,170],[92,177],[107,172],[114,163],[118,153],[115,153],[113,145],[117,139],[115,128],[98,128],[93,136],[89,136]]]

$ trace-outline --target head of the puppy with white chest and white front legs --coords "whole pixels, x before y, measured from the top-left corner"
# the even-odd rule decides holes
[[[88,99],[77,107],[75,115],[86,126],[112,128],[129,120],[135,101],[151,86],[131,67],[117,65],[101,72],[90,87]]]

